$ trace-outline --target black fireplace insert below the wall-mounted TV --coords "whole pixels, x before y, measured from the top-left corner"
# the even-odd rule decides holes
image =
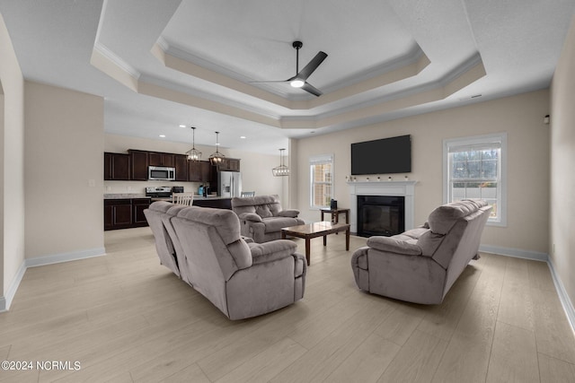
[[[392,235],[405,231],[405,197],[358,196],[358,236]]]

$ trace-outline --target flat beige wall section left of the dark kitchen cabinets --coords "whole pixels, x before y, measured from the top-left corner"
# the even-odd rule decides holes
[[[26,258],[103,252],[103,100],[25,86]]]

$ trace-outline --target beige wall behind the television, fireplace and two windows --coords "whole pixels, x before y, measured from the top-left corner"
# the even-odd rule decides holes
[[[509,248],[514,252],[524,250],[546,254],[549,243],[549,126],[544,125],[543,118],[548,113],[549,91],[535,91],[301,139],[297,143],[298,208],[306,221],[320,218],[320,214],[309,207],[310,156],[334,153],[335,199],[338,205],[349,206],[345,180],[350,173],[349,144],[411,135],[412,172],[409,177],[418,181],[415,222],[425,222],[431,210],[443,203],[443,140],[507,132],[508,225],[487,227],[482,244]],[[403,179],[403,176],[393,175],[396,179]],[[387,178],[387,175],[382,178]]]

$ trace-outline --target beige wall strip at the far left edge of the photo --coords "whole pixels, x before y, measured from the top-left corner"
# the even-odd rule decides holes
[[[0,310],[24,261],[24,81],[0,15]],[[10,297],[8,297],[10,299]]]

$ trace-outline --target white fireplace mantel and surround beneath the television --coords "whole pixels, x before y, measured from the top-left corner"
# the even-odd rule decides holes
[[[358,196],[404,196],[405,230],[413,229],[414,196],[417,181],[349,181],[349,228],[358,232]]]

